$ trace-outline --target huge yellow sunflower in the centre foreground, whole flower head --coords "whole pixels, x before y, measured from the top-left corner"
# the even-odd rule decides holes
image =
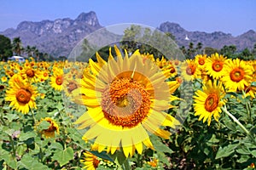
[[[125,58],[114,46],[117,60],[108,59],[100,67],[90,59],[93,74],[84,74],[80,97],[86,111],[75,122],[79,129],[89,127],[83,139],[95,139],[93,150],[113,154],[122,148],[126,157],[135,150],[143,152],[143,144],[154,149],[148,133],[169,139],[171,133],[161,127],[172,127],[177,120],[164,111],[172,107],[171,95],[177,82],[166,82],[166,77],[150,59],[143,62],[137,50]],[[99,59],[98,59],[99,60]],[[110,136],[114,138],[109,138]]]

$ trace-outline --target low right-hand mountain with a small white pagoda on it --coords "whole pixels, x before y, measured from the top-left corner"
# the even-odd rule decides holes
[[[256,43],[256,32],[253,30],[233,37],[231,34],[222,31],[214,31],[212,33],[186,31],[183,27],[171,22],[162,23],[159,29],[163,32],[171,32],[176,38],[177,45],[185,47],[189,46],[189,42],[193,42],[194,45],[201,42],[203,47],[220,49],[224,45],[236,45],[237,50],[243,50],[244,48],[253,48],[253,45]]]

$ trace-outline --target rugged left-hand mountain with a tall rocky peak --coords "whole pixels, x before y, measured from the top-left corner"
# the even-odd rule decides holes
[[[67,56],[81,39],[100,28],[96,13],[90,11],[79,14],[75,20],[23,21],[16,29],[7,29],[0,34],[11,39],[20,37],[23,47],[36,46],[40,52]]]

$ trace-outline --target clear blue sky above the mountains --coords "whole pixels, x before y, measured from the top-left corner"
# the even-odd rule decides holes
[[[75,19],[95,11],[102,26],[139,23],[157,27],[176,22],[187,31],[224,31],[233,36],[256,31],[254,0],[0,0],[0,31],[23,20]]]

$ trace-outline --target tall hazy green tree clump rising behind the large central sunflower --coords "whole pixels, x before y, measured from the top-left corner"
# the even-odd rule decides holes
[[[159,30],[131,25],[124,33],[120,47],[126,49],[129,54],[139,49],[141,54],[154,54],[154,58],[161,58],[164,55],[167,58],[177,58],[183,55],[177,49],[177,44],[173,41],[175,37],[170,32],[163,33]]]

